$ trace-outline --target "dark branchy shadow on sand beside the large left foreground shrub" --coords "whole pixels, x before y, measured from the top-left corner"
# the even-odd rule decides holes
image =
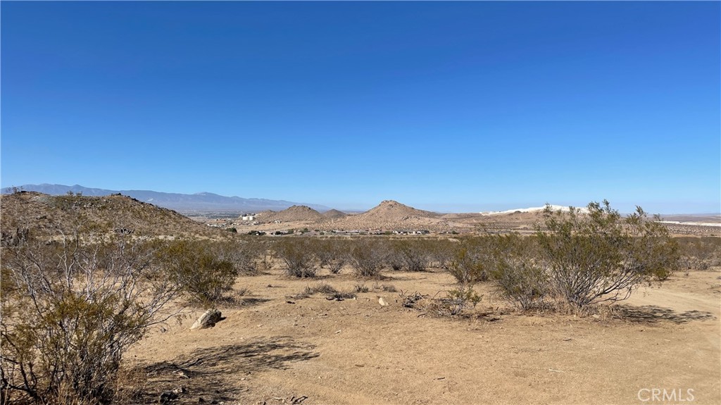
[[[157,403],[175,390],[172,404],[234,401],[245,391],[242,378],[262,370],[286,370],[293,362],[319,357],[312,344],[291,337],[256,337],[242,344],[199,348],[190,355],[141,368],[148,384],[141,403]]]

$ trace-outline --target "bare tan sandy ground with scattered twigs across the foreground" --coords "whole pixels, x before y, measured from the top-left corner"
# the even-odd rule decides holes
[[[250,295],[221,306],[215,327],[189,330],[196,309],[154,329],[126,356],[147,379],[138,402],[175,388],[176,404],[721,404],[719,268],[641,288],[600,318],[518,313],[487,285],[475,311],[491,316],[401,305],[400,290],[452,288],[440,270],[385,272],[355,300],[289,298],[319,282],[358,284],[347,271],[320,275],[239,277]],[[674,399],[654,401],[654,388]]]

